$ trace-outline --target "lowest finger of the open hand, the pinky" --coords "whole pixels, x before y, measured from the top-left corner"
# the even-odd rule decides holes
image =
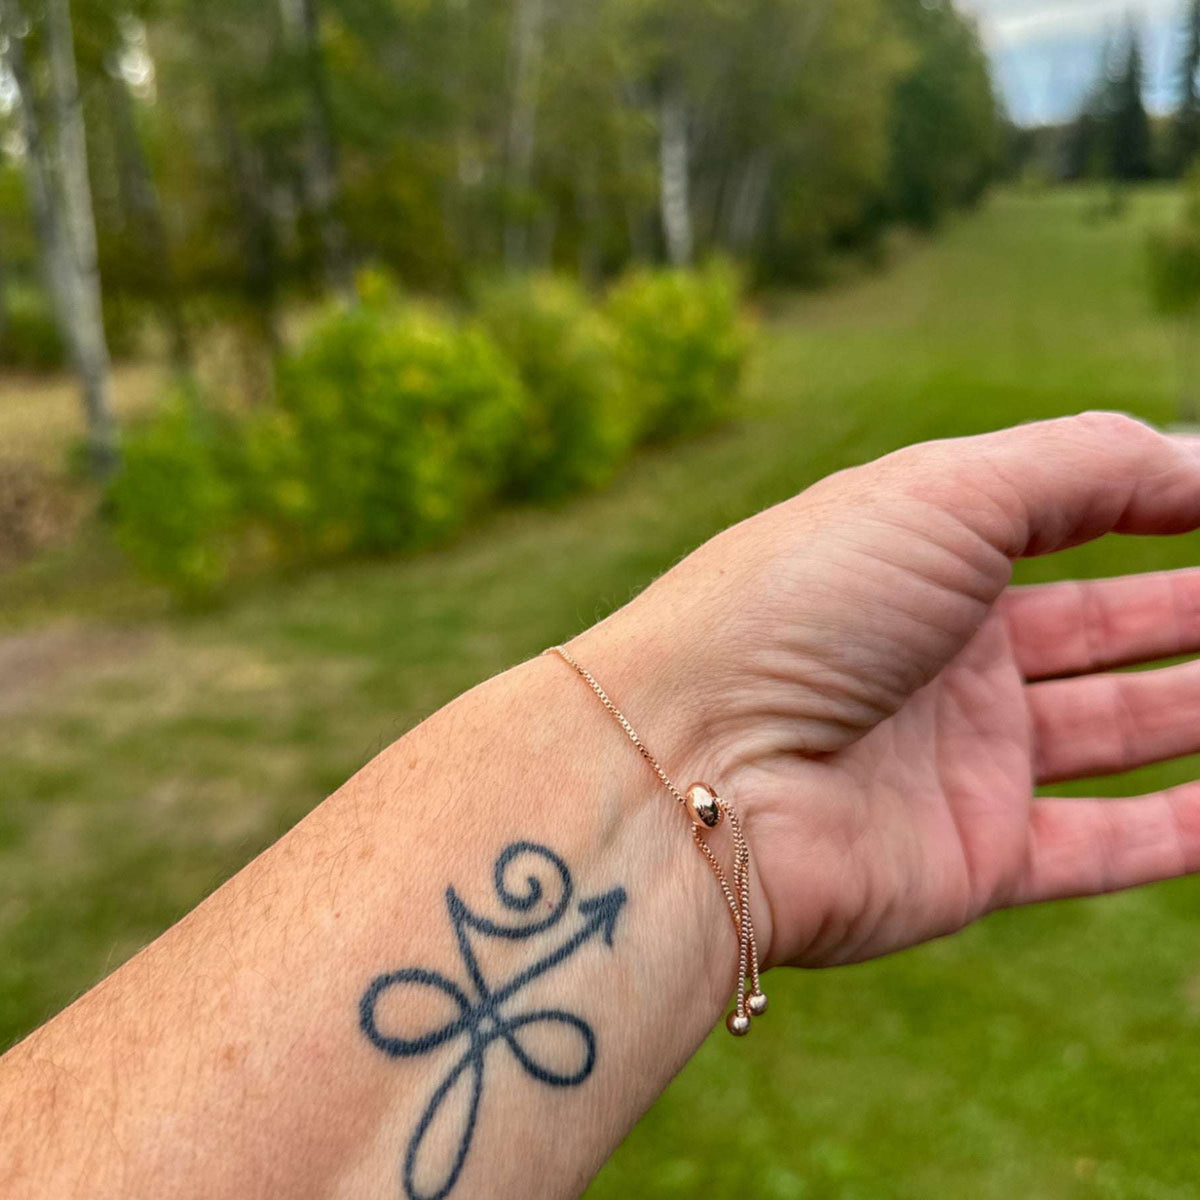
[[[1194,871],[1200,782],[1132,799],[1037,799],[1012,902],[1102,895]]]

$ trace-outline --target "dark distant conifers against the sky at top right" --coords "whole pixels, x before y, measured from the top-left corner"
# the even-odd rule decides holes
[[[1100,49],[1096,82],[1074,121],[1016,134],[1018,168],[1067,181],[1135,184],[1182,179],[1200,157],[1200,0],[1184,0],[1175,64],[1175,104],[1146,108],[1146,59],[1133,23]]]

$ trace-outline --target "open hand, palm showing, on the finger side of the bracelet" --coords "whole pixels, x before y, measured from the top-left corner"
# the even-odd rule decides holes
[[[578,653],[738,804],[768,960],[858,961],[1200,869],[1198,784],[1033,794],[1200,751],[1200,662],[1111,673],[1200,652],[1200,570],[1009,586],[1198,527],[1200,449],[1128,418],[913,446],[726,530]]]

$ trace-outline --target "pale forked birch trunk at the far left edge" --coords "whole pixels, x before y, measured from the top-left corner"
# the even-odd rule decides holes
[[[96,223],[88,179],[88,144],[74,61],[68,0],[48,0],[46,48],[56,156],[42,125],[38,96],[25,60],[24,24],[14,0],[0,0],[7,62],[20,101],[26,179],[47,290],[83,390],[91,466],[113,472],[119,442],[112,407],[108,343],[100,292]]]

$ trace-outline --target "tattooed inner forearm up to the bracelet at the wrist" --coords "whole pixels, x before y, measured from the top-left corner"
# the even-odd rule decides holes
[[[539,848],[512,852],[510,900],[530,864],[547,884],[523,910],[493,878],[521,842]],[[556,862],[572,896],[552,922]],[[547,924],[468,923],[494,1004],[448,888],[497,924]],[[0,1061],[0,1190],[437,1195],[461,1158],[454,1196],[575,1195],[719,1018],[732,946],[683,815],[560,662],[527,664]]]

